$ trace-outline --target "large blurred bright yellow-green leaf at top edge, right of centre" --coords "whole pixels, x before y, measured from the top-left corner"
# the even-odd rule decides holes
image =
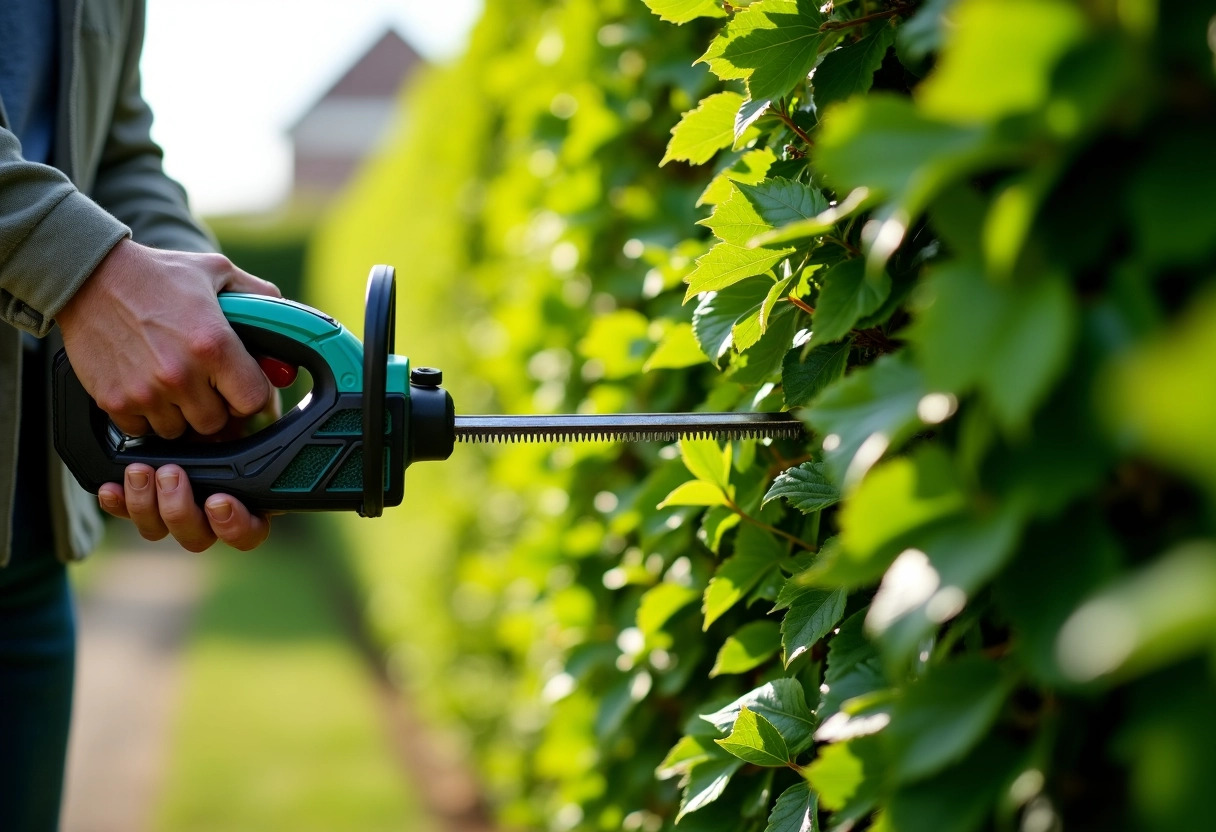
[[[958,123],[995,122],[1046,103],[1052,72],[1085,36],[1085,12],[1058,0],[969,0],[917,90],[921,108]]]

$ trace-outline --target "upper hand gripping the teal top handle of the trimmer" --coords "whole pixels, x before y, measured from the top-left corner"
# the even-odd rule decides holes
[[[120,431],[207,435],[266,406],[270,382],[220,311],[221,291],[281,297],[221,254],[124,240],[56,316],[80,383]]]

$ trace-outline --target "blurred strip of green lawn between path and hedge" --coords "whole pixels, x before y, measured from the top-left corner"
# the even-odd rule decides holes
[[[206,556],[210,588],[185,657],[154,828],[424,832],[376,682],[309,551],[322,544],[291,532],[276,529],[255,552]]]

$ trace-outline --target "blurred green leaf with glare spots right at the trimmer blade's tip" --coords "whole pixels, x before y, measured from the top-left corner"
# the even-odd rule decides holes
[[[824,437],[832,478],[848,488],[916,433],[917,405],[927,392],[921,372],[903,355],[884,355],[823,390],[806,418]],[[862,446],[866,452],[858,455]]]

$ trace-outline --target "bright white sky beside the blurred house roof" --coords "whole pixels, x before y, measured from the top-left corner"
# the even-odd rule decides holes
[[[456,57],[482,0],[148,0],[143,95],[165,169],[201,214],[271,208],[291,181],[287,128],[389,26]]]

